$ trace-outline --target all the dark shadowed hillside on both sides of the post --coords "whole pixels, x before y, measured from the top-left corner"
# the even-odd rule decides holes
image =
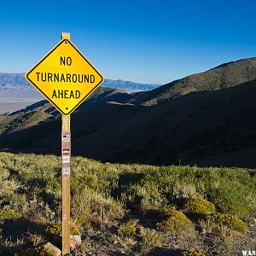
[[[156,165],[255,167],[255,86],[253,80],[192,93],[156,108],[112,101],[91,105],[100,94],[73,114],[73,154]],[[0,143],[14,151],[59,154],[60,127],[59,116],[51,117],[3,134]]]

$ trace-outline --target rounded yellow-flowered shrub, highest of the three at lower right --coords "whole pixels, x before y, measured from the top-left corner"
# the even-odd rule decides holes
[[[189,199],[183,207],[184,212],[195,214],[211,214],[215,212],[214,205],[202,198]]]

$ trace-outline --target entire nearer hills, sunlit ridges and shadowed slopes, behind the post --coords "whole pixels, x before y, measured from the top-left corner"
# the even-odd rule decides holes
[[[255,58],[144,92],[102,87],[72,115],[72,152],[111,162],[256,167],[255,100]],[[46,101],[0,115],[2,150],[60,154],[60,137],[60,114]]]

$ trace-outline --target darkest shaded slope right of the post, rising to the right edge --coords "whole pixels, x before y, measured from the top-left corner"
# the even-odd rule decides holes
[[[79,137],[73,153],[118,162],[255,167],[255,88],[253,80],[140,109],[125,122]],[[225,157],[230,152],[239,158]],[[215,162],[220,156],[224,162]]]

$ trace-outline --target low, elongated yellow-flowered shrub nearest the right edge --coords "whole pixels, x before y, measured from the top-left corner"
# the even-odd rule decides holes
[[[236,230],[240,233],[246,233],[248,230],[247,225],[240,218],[230,214],[212,213],[207,215],[207,220],[219,226],[224,225],[231,230]]]

